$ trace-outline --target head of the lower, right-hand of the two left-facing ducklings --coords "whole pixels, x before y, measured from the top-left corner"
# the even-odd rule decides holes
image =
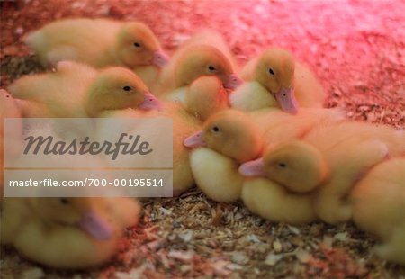
[[[308,193],[320,185],[329,170],[320,151],[302,141],[280,144],[264,157],[239,167],[245,176],[263,176],[296,193]]]

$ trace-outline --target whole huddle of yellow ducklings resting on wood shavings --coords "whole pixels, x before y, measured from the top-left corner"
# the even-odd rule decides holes
[[[353,220],[383,239],[379,256],[405,264],[405,131],[323,108],[319,81],[287,50],[239,69],[201,31],[169,58],[145,24],[106,19],[59,20],[24,40],[53,70],[2,91],[3,118],[171,118],[174,194],[196,184],[267,220]],[[132,200],[23,201],[5,199],[3,241],[49,266],[103,263],[138,221]]]

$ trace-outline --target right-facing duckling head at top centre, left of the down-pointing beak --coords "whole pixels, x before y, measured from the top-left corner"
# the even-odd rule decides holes
[[[193,43],[192,38],[175,52],[162,69],[160,81],[153,92],[165,97],[167,93],[187,87],[200,76],[218,76],[227,89],[241,84],[232,63],[220,49],[209,42]]]

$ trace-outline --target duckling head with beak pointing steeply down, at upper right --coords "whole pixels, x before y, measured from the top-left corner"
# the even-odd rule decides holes
[[[296,113],[298,103],[293,92],[295,60],[285,49],[266,49],[257,60],[254,78],[263,85],[285,112]]]

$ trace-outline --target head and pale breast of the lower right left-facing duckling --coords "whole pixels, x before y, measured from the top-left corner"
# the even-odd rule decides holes
[[[293,140],[239,167],[241,175],[255,177],[243,184],[241,197],[249,211],[266,220],[309,223],[317,220],[311,190],[328,171],[318,150]]]

